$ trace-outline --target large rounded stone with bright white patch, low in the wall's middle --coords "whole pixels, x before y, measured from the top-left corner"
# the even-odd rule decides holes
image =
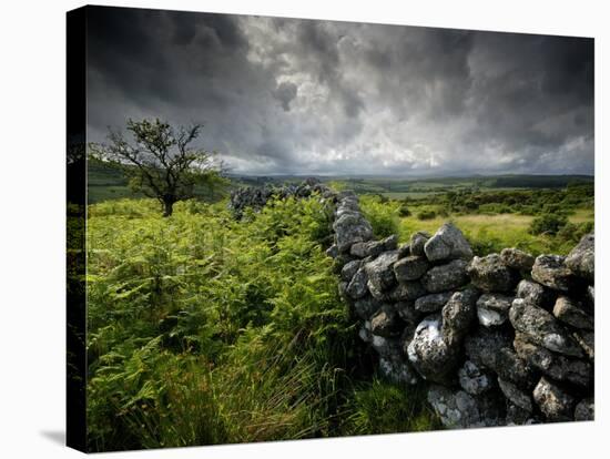
[[[443,337],[439,314],[428,316],[415,329],[407,346],[407,355],[424,379],[446,382],[458,363],[458,346],[450,346]]]

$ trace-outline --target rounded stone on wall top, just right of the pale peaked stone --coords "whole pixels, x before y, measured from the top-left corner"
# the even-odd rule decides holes
[[[519,282],[518,273],[505,265],[498,254],[474,257],[467,272],[472,284],[485,292],[510,292]]]

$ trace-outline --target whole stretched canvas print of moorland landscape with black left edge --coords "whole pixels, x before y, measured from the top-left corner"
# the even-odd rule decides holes
[[[593,420],[593,143],[591,38],[69,12],[69,446]]]

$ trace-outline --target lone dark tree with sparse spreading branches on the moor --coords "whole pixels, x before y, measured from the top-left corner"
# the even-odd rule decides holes
[[[92,154],[121,167],[132,190],[159,200],[163,216],[170,216],[176,202],[194,196],[196,185],[221,184],[222,163],[213,153],[192,146],[201,124],[177,130],[155,119],[128,120],[130,143],[122,132],[109,129],[108,144],[91,146]]]

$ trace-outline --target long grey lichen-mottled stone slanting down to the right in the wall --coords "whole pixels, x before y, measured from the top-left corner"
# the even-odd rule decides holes
[[[582,356],[580,347],[547,310],[515,298],[508,317],[515,329],[527,335],[532,343],[568,356]]]

